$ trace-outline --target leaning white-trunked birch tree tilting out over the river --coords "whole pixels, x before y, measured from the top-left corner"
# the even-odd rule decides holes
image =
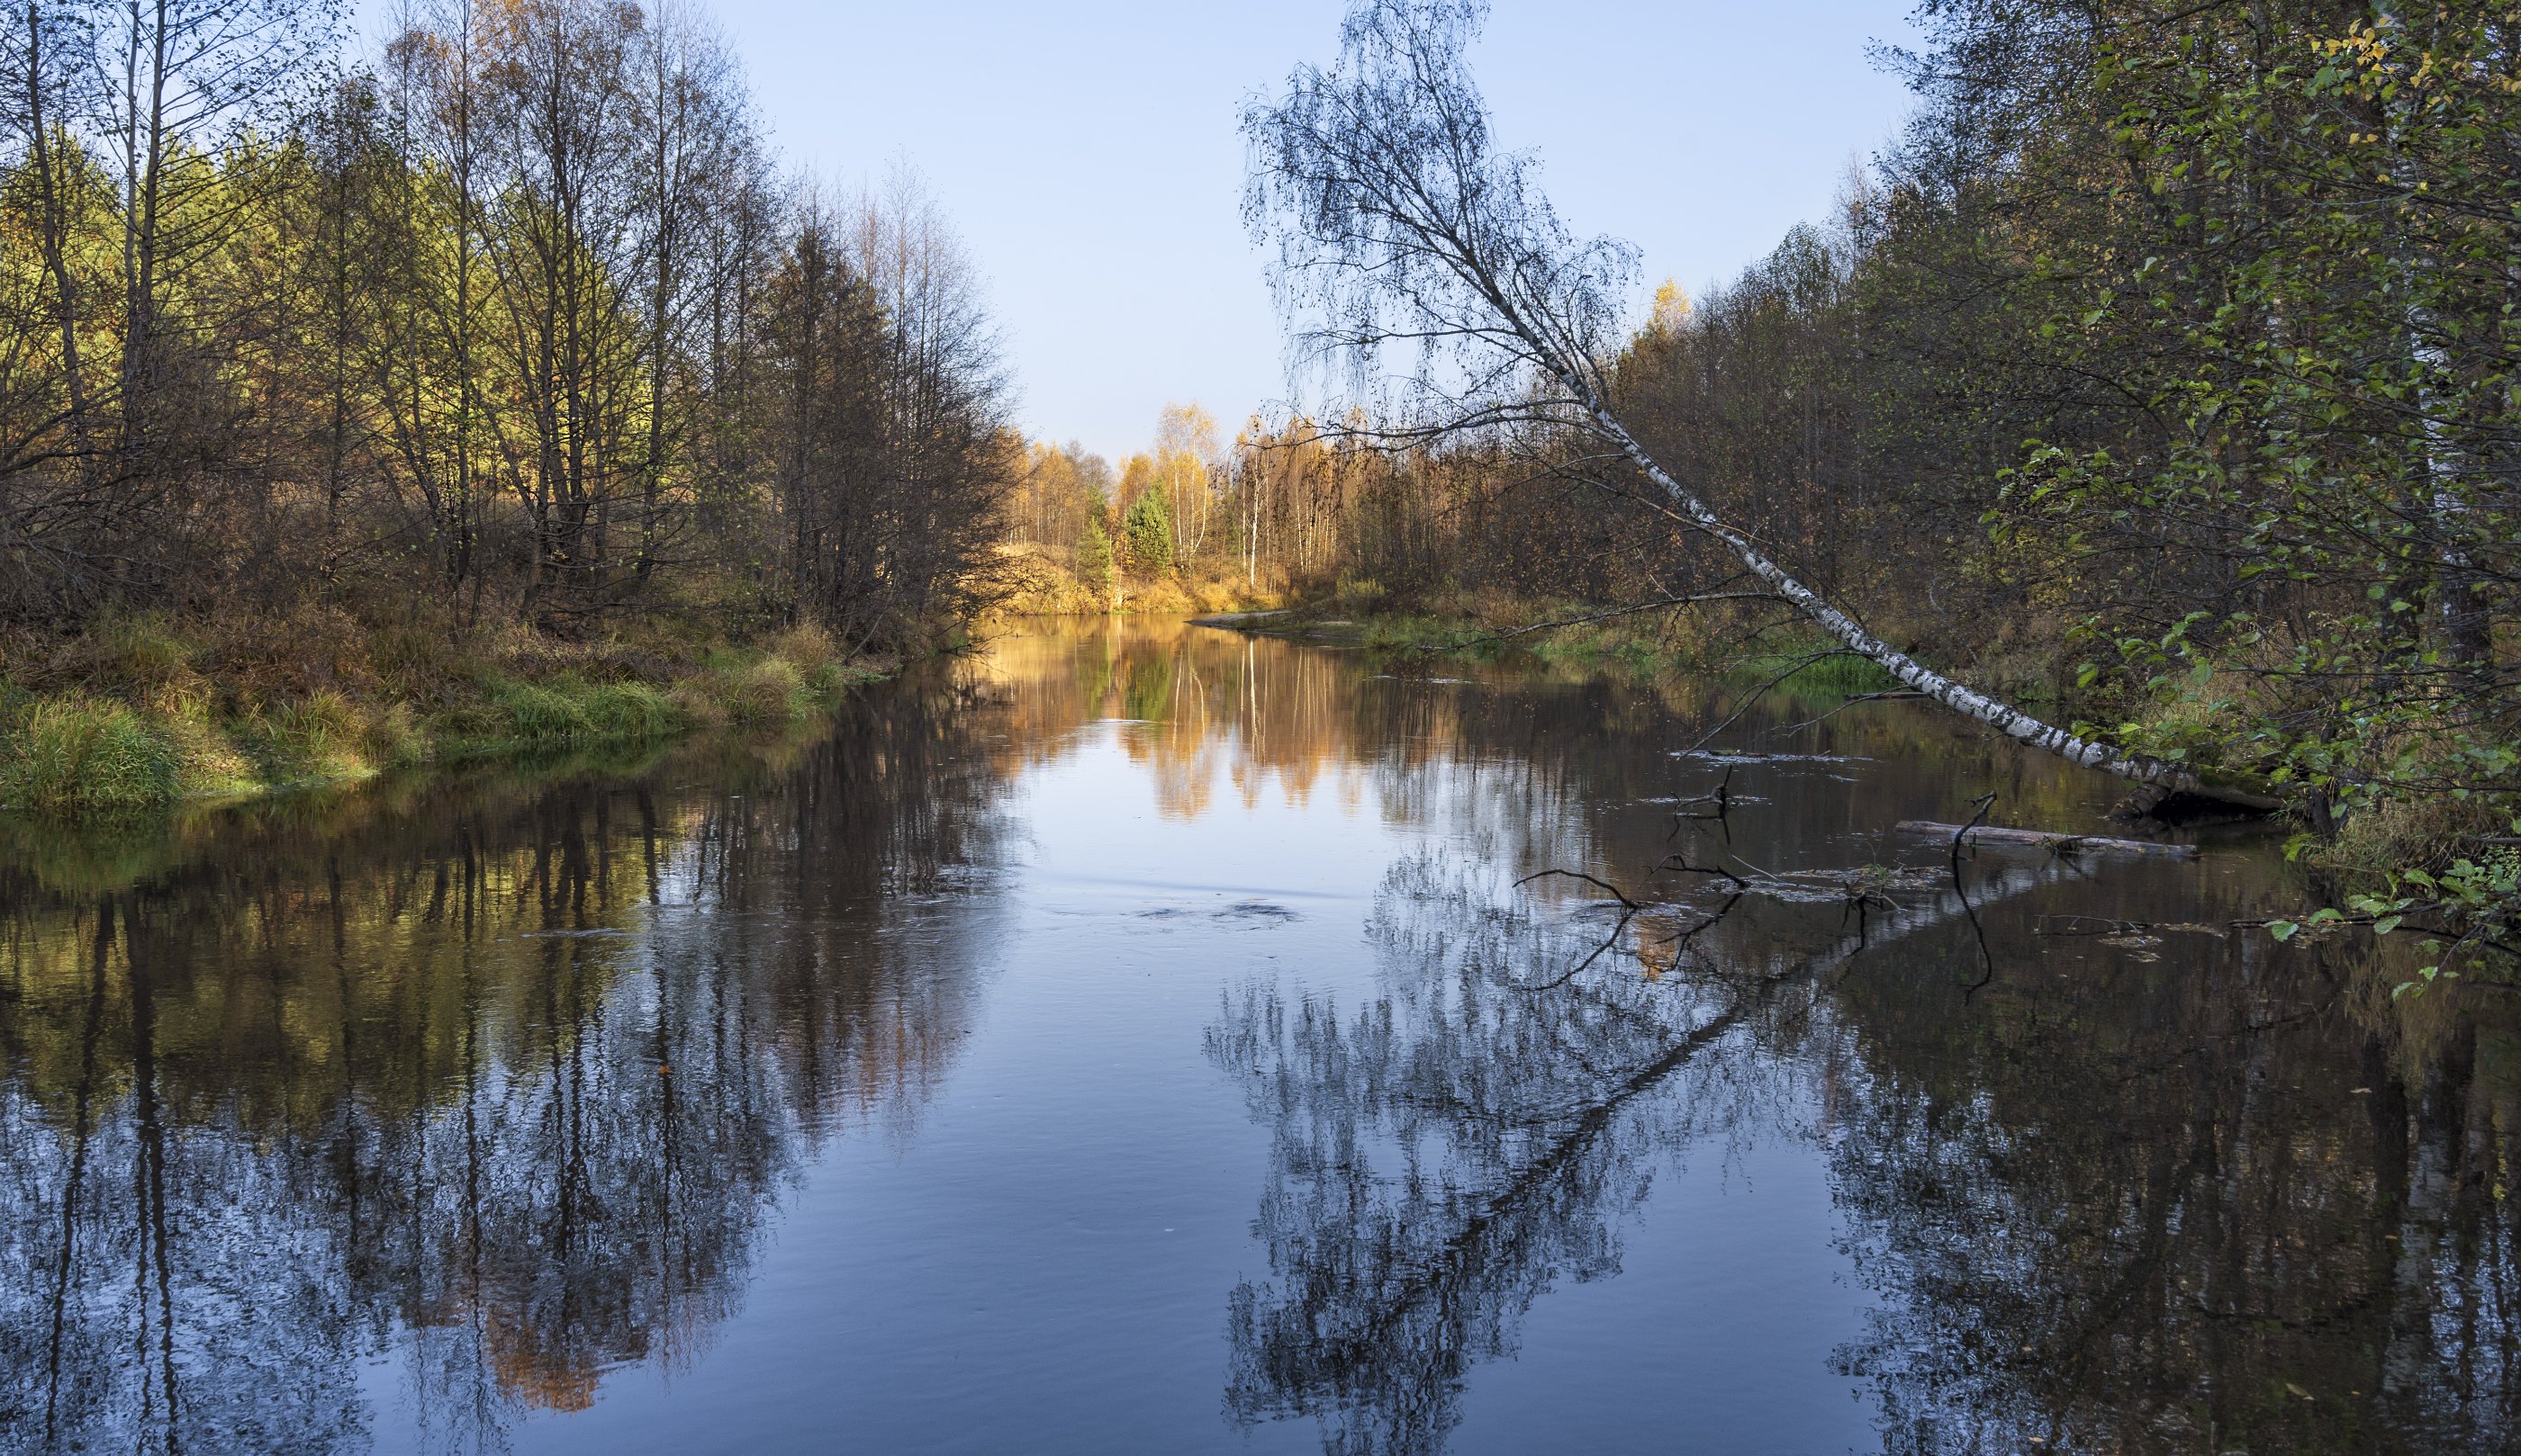
[[[1414,355],[1402,398],[1387,403],[1419,441],[1540,426],[1598,443],[1679,524],[1739,559],[1760,592],[2017,743],[2166,793],[2279,809],[2264,791],[2082,738],[1926,668],[1795,579],[1639,443],[1606,373],[1636,252],[1578,239],[1533,159],[1497,146],[1465,60],[1485,10],[1482,0],[1359,0],[1339,60],[1303,65],[1283,96],[1245,106],[1245,222],[1276,244],[1273,287],[1296,353],[1346,365],[1356,383],[1387,353]]]

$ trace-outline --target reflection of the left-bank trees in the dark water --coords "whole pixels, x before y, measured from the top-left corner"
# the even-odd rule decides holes
[[[968,700],[857,705],[741,796],[471,796],[20,909],[0,942],[0,1431],[436,1446],[688,1358],[809,1141],[908,1116],[998,836]],[[739,771],[741,773],[741,771]]]

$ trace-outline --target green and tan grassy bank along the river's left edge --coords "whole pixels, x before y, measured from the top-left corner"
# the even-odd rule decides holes
[[[880,675],[814,630],[555,642],[335,615],[118,617],[0,660],[0,809],[91,819],[421,763],[661,743],[787,723]]]

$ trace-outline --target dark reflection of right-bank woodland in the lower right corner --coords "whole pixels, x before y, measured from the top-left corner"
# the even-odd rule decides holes
[[[1979,1015],[1845,987],[1833,1181],[1883,1305],[1843,1365],[1886,1448],[2511,1451],[2521,1043],[2463,1015],[2405,1093],[2362,967],[2183,940],[2012,957]]]

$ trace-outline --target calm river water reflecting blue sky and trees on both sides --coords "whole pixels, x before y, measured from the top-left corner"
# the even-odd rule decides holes
[[[2521,998],[2231,927],[2264,834],[1956,879],[1893,826],[2110,788],[1732,710],[1051,622],[10,826],[0,1448],[2513,1448]]]

